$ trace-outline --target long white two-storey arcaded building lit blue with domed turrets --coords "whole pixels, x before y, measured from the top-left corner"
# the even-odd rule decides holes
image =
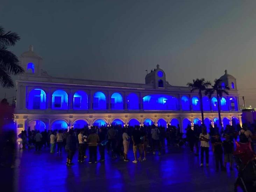
[[[165,72],[156,69],[145,77],[145,84],[52,77],[43,70],[42,58],[33,51],[24,52],[20,62],[25,73],[16,81],[17,132],[27,129],[68,129],[100,125],[200,124],[200,101],[189,87],[172,86]],[[225,71],[223,85],[229,95],[221,99],[223,125],[241,123],[236,79]],[[218,123],[216,97],[203,97],[205,125]]]

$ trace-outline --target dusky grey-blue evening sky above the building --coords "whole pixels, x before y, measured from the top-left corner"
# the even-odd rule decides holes
[[[59,77],[144,83],[160,65],[171,85],[227,69],[256,107],[256,1],[0,1],[0,25]],[[0,89],[0,97],[15,95]]]

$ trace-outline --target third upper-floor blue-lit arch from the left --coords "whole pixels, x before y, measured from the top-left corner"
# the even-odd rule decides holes
[[[84,91],[77,91],[74,93],[73,109],[88,109],[88,95]]]

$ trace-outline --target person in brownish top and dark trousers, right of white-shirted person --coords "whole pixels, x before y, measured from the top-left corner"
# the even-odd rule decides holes
[[[95,129],[91,129],[91,134],[87,138],[87,142],[89,145],[89,162],[92,163],[92,159],[94,157],[94,162],[97,163],[97,144],[100,141],[99,135],[96,134]]]

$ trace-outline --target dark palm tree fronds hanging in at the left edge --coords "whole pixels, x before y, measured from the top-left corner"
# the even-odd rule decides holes
[[[5,32],[0,26],[0,83],[2,87],[14,87],[10,75],[18,75],[24,72],[16,55],[7,50],[9,46],[14,46],[19,40],[20,36],[17,33]]]

